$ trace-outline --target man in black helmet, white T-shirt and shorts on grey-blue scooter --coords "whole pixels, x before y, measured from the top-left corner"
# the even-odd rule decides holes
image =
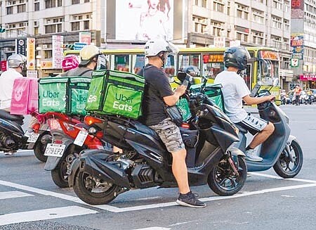
[[[235,124],[247,129],[254,139],[246,148],[246,159],[252,161],[262,161],[256,155],[254,148],[263,143],[275,130],[272,123],[261,118],[254,117],[242,108],[242,101],[247,105],[256,105],[264,101],[271,101],[275,96],[263,96],[254,98],[250,96],[250,91],[239,75],[247,67],[247,60],[250,58],[249,52],[242,46],[230,47],[224,53],[224,65],[227,70],[220,72],[215,78],[215,84],[222,84],[225,111],[230,120]]]

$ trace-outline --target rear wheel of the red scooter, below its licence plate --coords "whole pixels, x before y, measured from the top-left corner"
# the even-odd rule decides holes
[[[60,188],[69,187],[67,170],[68,165],[71,165],[72,161],[76,158],[75,154],[76,153],[68,152],[65,156],[62,156],[62,159],[60,159],[55,169],[51,170],[51,178],[53,179],[55,185]]]

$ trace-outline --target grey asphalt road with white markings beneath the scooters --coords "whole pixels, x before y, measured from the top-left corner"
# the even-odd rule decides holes
[[[0,153],[0,229],[316,229],[316,105],[282,106],[304,163],[294,179],[273,170],[251,173],[242,191],[220,197],[208,186],[192,187],[207,204],[180,207],[177,189],[120,194],[91,206],[72,189],[60,189],[32,151]]]

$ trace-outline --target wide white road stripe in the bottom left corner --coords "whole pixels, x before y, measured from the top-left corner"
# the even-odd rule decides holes
[[[56,219],[62,217],[73,217],[79,215],[95,214],[97,211],[79,206],[55,207],[44,210],[29,212],[15,212],[0,215],[0,226],[21,222],[32,222],[43,219]]]

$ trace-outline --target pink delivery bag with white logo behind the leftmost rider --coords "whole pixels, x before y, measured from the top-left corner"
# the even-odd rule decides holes
[[[39,90],[37,78],[20,77],[14,80],[11,114],[27,115],[38,110]]]

